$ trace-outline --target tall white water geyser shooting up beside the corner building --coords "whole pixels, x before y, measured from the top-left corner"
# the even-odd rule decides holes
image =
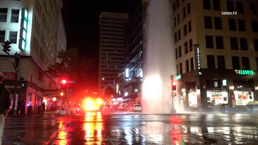
[[[170,0],[147,3],[143,60],[143,113],[173,113],[171,75],[176,75]],[[179,102],[175,101],[174,104]]]

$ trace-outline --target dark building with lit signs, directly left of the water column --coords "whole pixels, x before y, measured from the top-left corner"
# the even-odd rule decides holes
[[[129,19],[125,23],[123,99],[138,102],[143,81],[142,70],[142,2],[129,1]],[[137,90],[137,92],[135,92]],[[137,95],[137,96],[136,96]]]

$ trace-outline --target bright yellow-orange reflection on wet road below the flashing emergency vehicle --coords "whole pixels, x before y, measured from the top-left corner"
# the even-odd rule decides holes
[[[103,124],[100,112],[87,112],[85,115],[85,124],[83,125],[83,128],[85,130],[84,138],[86,140],[86,145],[102,144]]]

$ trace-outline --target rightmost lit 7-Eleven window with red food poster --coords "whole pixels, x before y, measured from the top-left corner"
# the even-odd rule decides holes
[[[253,92],[251,91],[234,91],[236,105],[246,105],[249,101],[253,101]]]

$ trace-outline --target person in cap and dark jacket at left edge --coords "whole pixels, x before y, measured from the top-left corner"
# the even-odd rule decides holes
[[[2,144],[5,118],[9,112],[11,105],[11,91],[5,88],[5,85],[2,83],[2,81],[3,73],[0,72],[0,145]]]

